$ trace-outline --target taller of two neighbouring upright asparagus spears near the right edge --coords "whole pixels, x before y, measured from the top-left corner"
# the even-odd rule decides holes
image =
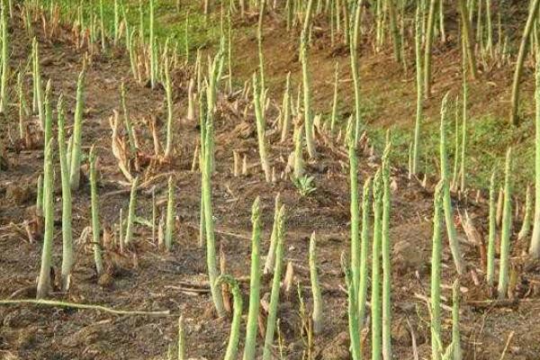
[[[497,293],[499,299],[506,299],[509,291],[510,235],[512,228],[512,148],[507,152],[504,175],[504,206],[502,229],[500,230],[500,270]]]

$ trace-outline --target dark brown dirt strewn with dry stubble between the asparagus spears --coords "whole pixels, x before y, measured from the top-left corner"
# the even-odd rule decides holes
[[[38,29],[38,27],[36,27]],[[29,54],[28,40],[21,24],[15,23],[14,64],[25,61]],[[53,42],[40,36],[42,71],[44,78],[51,78],[55,97],[60,92],[66,95],[69,109],[74,109],[76,76],[82,64],[82,51],[76,51],[70,34],[60,31]],[[268,37],[269,51],[275,51],[280,39]],[[272,46],[275,41],[275,46]],[[283,45],[282,45],[283,46]],[[282,48],[284,49],[284,48]],[[272,58],[271,52],[267,58]],[[248,55],[247,55],[248,56]],[[277,57],[277,55],[276,55]],[[387,60],[389,61],[388,57]],[[239,58],[238,64],[242,64]],[[298,65],[291,59],[287,64],[270,62],[272,74],[285,72]],[[317,56],[312,66],[326,68],[331,74],[333,61]],[[345,67],[345,66],[344,66]],[[380,68],[379,64],[364,67]],[[244,71],[248,67],[242,67]],[[374,74],[377,74],[374,71]],[[321,74],[323,74],[321,72]],[[381,74],[381,73],[378,73]],[[379,75],[382,76],[382,75]],[[389,76],[386,74],[386,76]],[[457,75],[455,74],[457,78]],[[166,197],[166,175],[173,175],[176,188],[177,215],[174,250],[165,254],[157,249],[148,228],[138,225],[134,234],[135,245],[126,254],[120,255],[112,248],[105,249],[108,266],[115,268],[112,279],[101,286],[94,275],[93,257],[89,244],[76,246],[76,266],[69,294],[53,293],[52,298],[70,302],[102,304],[115,309],[139,311],[171,311],[171,317],[152,318],[141,316],[112,316],[101,311],[76,311],[31,305],[9,305],[0,307],[0,356],[6,359],[165,359],[167,347],[174,346],[177,317],[184,315],[187,331],[187,352],[190,357],[218,359],[223,356],[229,335],[229,319],[216,319],[211,313],[211,298],[207,289],[205,254],[198,247],[198,217],[200,199],[200,175],[190,171],[198,130],[196,122],[186,121],[186,81],[183,70],[175,76],[175,157],[172,164],[161,166],[143,176],[147,184],[139,191],[137,214],[149,219],[151,216],[151,186],[156,185],[164,211]],[[314,87],[321,81],[331,82],[331,76],[316,79]],[[129,61],[117,51],[113,56],[94,58],[86,79],[85,150],[92,144],[98,148],[100,157],[99,184],[100,215],[103,226],[111,229],[118,221],[120,209],[127,209],[129,186],[122,184],[122,176],[112,157],[110,127],[108,119],[113,109],[119,109],[119,87],[122,81],[128,86],[131,117],[139,138],[143,140],[143,151],[151,153],[151,137],[145,118],[157,116],[164,120],[163,91],[152,91],[135,84],[129,76]],[[378,82],[378,79],[369,80]],[[395,80],[395,78],[393,79]],[[440,82],[439,82],[440,83]],[[30,84],[30,83],[29,83]],[[272,85],[272,84],[270,84]],[[390,86],[390,82],[388,84]],[[331,86],[328,86],[331,88]],[[28,86],[30,88],[30,85]],[[374,86],[381,93],[385,88]],[[409,89],[408,92],[412,92]],[[438,92],[438,90],[437,90]],[[314,102],[328,102],[328,92],[316,90]],[[486,94],[489,96],[489,94]],[[399,99],[395,99],[395,104]],[[479,99],[479,101],[482,101]],[[238,104],[240,109],[235,112]],[[320,281],[323,284],[325,327],[315,338],[311,353],[320,359],[347,359],[347,294],[343,291],[344,276],[340,269],[340,256],[349,247],[349,194],[347,157],[338,145],[324,145],[318,139],[320,159],[309,164],[309,172],[315,178],[317,190],[309,197],[301,197],[287,178],[275,184],[266,184],[257,167],[257,139],[242,139],[234,130],[242,120],[253,123],[253,112],[242,119],[246,106],[242,99],[220,98],[216,120],[216,165],[213,179],[214,216],[217,240],[227,259],[227,271],[238,278],[246,278],[249,271],[250,207],[256,196],[261,197],[264,222],[264,248],[268,246],[272,228],[275,193],[281,193],[288,209],[286,261],[295,271],[295,280],[301,285],[302,298],[311,309],[310,281],[307,271],[307,246],[311,231],[316,230],[319,241]],[[392,106],[389,106],[389,108]],[[392,111],[412,112],[405,102]],[[10,113],[11,114],[11,113]],[[388,119],[392,119],[392,113]],[[69,114],[71,121],[72,112]],[[16,117],[13,117],[16,119]],[[3,123],[2,140],[7,143],[7,130],[15,133],[12,117],[6,116]],[[275,119],[271,110],[269,120]],[[277,136],[268,128],[271,163],[276,174],[285,167],[292,144],[279,144]],[[162,139],[164,134],[161,133]],[[232,150],[247,154],[253,164],[250,174],[234,177]],[[14,231],[11,222],[20,224],[31,220],[31,206],[35,199],[36,180],[42,168],[42,150],[19,151],[8,146],[7,171],[0,172],[0,298],[31,298],[40,266],[40,240],[30,243],[25,236]],[[374,173],[377,158],[360,156],[360,182]],[[58,172],[57,172],[58,173]],[[57,183],[58,175],[57,177]],[[393,169],[395,190],[392,193],[392,298],[393,298],[393,344],[396,358],[412,359],[412,340],[407,320],[416,334],[420,358],[428,358],[429,317],[427,304],[422,297],[429,293],[429,258],[431,254],[432,193],[421,188],[416,181],[409,181],[401,170]],[[146,183],[148,181],[148,183]],[[59,193],[57,193],[59,198]],[[456,207],[465,208],[476,216],[479,229],[485,229],[485,203],[469,201],[455,202]],[[56,205],[54,264],[58,272],[61,256],[60,203]],[[84,184],[74,194],[75,237],[90,224],[89,187]],[[457,220],[456,220],[457,221]],[[514,227],[518,229],[518,224]],[[460,235],[464,237],[463,231]],[[477,248],[464,244],[467,265],[472,273],[462,279],[462,341],[467,359],[496,359],[505,347],[509,334],[513,333],[506,359],[535,360],[540,358],[540,325],[536,313],[540,308],[538,299],[538,270],[522,266],[522,250],[525,244],[517,244],[514,252],[516,283],[513,294],[515,302],[495,307],[482,302],[487,300],[483,285],[473,284],[476,274],[482,281],[482,266]],[[455,279],[452,258],[448,249],[444,255],[444,302],[450,305],[449,286]],[[197,289],[197,291],[193,291]],[[187,290],[186,290],[187,289]],[[192,290],[190,290],[192,289]],[[247,283],[242,283],[247,304]],[[266,280],[262,294],[269,291]],[[450,313],[444,311],[445,342],[449,342]],[[295,290],[284,294],[279,309],[280,329],[284,338],[284,356],[300,359],[306,351],[301,336],[299,302]],[[368,337],[369,338],[369,337]],[[262,340],[259,339],[259,344]],[[240,344],[241,348],[241,344]]]

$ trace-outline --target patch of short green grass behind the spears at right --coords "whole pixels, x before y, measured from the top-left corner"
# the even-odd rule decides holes
[[[514,181],[519,194],[525,193],[527,183],[534,178],[534,121],[525,119],[519,128],[509,127],[506,119],[491,115],[470,119],[468,127],[466,172],[468,183],[474,188],[487,189],[494,167],[504,168],[506,150],[509,146],[514,148],[516,158],[514,168]],[[438,172],[438,119],[425,119],[421,132],[420,172],[424,172],[426,154],[428,154],[428,174]],[[448,156],[449,164],[454,166],[455,158],[455,130],[454,122],[448,121]],[[370,127],[370,139],[374,143],[377,153],[382,153],[386,130]],[[392,128],[392,162],[406,166],[409,156],[409,144],[412,141],[412,123],[405,123]],[[459,134],[458,134],[459,136]],[[453,171],[453,167],[451,168]],[[501,179],[499,179],[501,180]]]

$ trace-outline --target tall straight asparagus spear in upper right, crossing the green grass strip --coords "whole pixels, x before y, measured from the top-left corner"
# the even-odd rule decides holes
[[[420,13],[420,5],[417,6],[416,17],[415,17],[415,54],[416,54],[416,77],[417,77],[417,107],[416,107],[416,119],[414,124],[414,142],[412,146],[412,166],[411,174],[416,175],[419,171],[419,151],[420,151],[420,125],[422,122],[422,110],[423,110],[423,73],[422,73],[422,29]]]

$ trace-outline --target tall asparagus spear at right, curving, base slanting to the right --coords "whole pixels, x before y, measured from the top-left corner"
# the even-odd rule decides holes
[[[448,241],[452,257],[454,257],[455,270],[458,274],[464,273],[464,262],[459,248],[459,241],[454,224],[454,214],[452,211],[452,198],[450,197],[450,175],[448,171],[448,157],[446,154],[446,118],[448,113],[448,95],[443,98],[441,105],[441,127],[440,127],[440,158],[441,158],[441,179],[443,181],[444,196],[443,203],[445,208],[446,231],[448,233]]]

